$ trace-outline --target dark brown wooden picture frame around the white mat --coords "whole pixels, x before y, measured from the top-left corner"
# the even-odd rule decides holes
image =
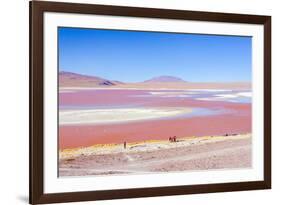
[[[76,3],[30,3],[30,203],[198,194],[271,188],[271,17],[183,10],[103,6]],[[45,194],[43,191],[43,13],[79,13],[212,22],[260,24],[264,28],[264,180],[109,191]]]

